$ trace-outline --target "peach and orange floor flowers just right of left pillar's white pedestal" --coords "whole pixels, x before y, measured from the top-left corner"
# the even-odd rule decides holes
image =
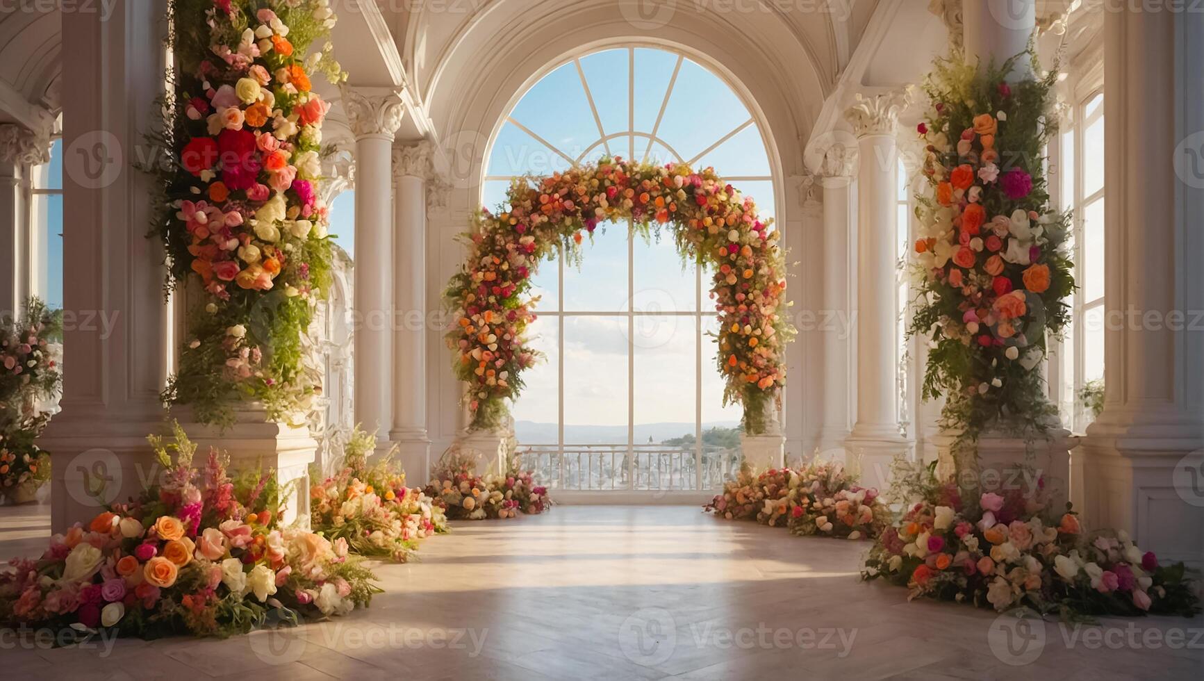
[[[311,466],[311,479],[321,480],[309,488],[311,527],[361,556],[405,563],[420,539],[447,532],[447,517],[423,489],[406,486],[390,457],[370,466],[374,447],[376,435],[356,429],[338,472],[323,477]]]

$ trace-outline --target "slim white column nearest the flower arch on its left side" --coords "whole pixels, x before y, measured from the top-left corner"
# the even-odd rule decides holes
[[[405,471],[425,482],[431,440],[426,434],[426,180],[430,142],[394,149],[393,429]]]

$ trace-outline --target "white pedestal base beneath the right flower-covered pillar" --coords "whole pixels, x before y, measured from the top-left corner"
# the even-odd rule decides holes
[[[954,433],[942,433],[932,440],[937,445],[937,476],[956,479],[962,489],[1001,494],[1021,489],[1031,495],[1040,488],[1055,515],[1070,499],[1070,450],[1079,445],[1079,439],[1069,430],[1051,428],[1032,440],[988,432],[961,452],[955,451]]]

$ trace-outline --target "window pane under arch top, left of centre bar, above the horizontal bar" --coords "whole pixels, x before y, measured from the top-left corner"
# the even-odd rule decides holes
[[[601,223],[582,237],[582,263],[565,263],[565,310],[620,312],[627,297],[627,223]]]

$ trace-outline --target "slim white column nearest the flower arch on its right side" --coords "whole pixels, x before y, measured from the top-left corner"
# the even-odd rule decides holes
[[[852,341],[854,319],[849,309],[850,284],[855,265],[849,253],[849,237],[856,233],[852,224],[851,188],[856,149],[833,145],[824,153],[820,184],[824,188],[824,310],[819,323],[824,354],[824,425],[820,450],[833,456],[843,454],[850,425],[850,391],[852,370],[849,346]]]

